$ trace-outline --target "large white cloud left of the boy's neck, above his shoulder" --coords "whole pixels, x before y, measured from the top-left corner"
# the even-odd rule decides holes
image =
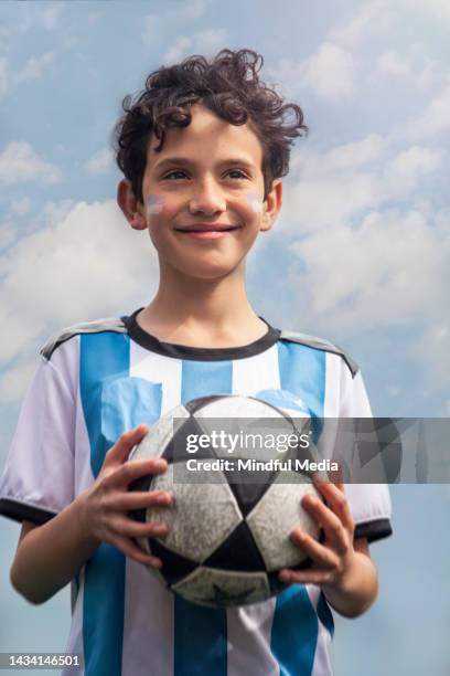
[[[148,233],[131,230],[113,200],[75,204],[3,253],[0,271],[0,320],[8,326],[0,359],[19,357],[14,368],[38,355],[49,334],[135,309],[158,279]]]

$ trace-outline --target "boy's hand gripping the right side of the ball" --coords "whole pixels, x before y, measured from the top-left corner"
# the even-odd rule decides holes
[[[313,479],[313,484],[328,506],[311,495],[304,496],[301,504],[322,527],[324,541],[318,542],[300,529],[292,530],[290,535],[292,542],[308,553],[313,564],[308,570],[283,568],[279,572],[279,578],[282,582],[341,588],[355,558],[353,548],[355,525],[342,483]]]

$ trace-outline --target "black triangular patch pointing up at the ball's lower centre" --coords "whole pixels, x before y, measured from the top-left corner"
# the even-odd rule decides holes
[[[259,549],[245,521],[242,521],[210,558],[203,561],[203,566],[243,572],[266,570]]]

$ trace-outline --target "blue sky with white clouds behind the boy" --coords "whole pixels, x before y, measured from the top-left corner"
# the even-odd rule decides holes
[[[46,338],[147,305],[156,256],[115,203],[126,94],[190,54],[250,47],[310,127],[248,264],[271,324],[345,347],[376,415],[448,416],[448,0],[0,3],[0,464]],[[119,275],[118,275],[119,271]],[[336,617],[336,676],[450,670],[448,486],[394,486],[377,603]],[[67,590],[34,608],[0,522],[0,652],[62,651]]]

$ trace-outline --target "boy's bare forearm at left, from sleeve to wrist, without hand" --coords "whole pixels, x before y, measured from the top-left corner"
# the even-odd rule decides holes
[[[31,603],[44,603],[73,580],[98,545],[83,527],[81,500],[75,500],[25,536],[11,567],[11,583]]]

